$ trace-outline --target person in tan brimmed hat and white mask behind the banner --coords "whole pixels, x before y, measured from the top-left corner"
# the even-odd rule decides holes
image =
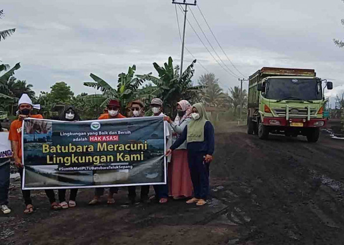
[[[134,100],[128,104],[128,108],[131,110],[132,117],[144,116],[144,104],[141,100]],[[149,185],[141,186],[141,199],[140,201],[146,203],[148,201]],[[131,204],[136,202],[136,186],[128,186],[128,197]]]

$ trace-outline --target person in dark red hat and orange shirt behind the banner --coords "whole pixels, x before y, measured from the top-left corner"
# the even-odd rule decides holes
[[[125,118],[122,114],[119,113],[121,108],[120,102],[117,99],[111,99],[109,104],[107,105],[108,113],[102,114],[98,120],[104,119],[117,119],[117,118]],[[118,187],[110,187],[109,196],[108,196],[108,204],[114,204],[114,193],[118,192]],[[88,202],[89,205],[96,205],[100,203],[100,197],[104,195],[104,188],[98,187],[95,188],[94,197],[93,199]]]

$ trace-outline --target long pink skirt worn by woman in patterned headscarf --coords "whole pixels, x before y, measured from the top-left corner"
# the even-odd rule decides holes
[[[186,149],[173,150],[171,163],[168,165],[169,195],[192,196],[192,181]]]

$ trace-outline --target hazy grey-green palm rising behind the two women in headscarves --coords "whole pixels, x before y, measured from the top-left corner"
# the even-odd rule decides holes
[[[214,73],[203,74],[199,78],[199,84],[203,86],[201,98],[207,106],[219,106],[224,104],[226,94],[219,85],[219,79]]]

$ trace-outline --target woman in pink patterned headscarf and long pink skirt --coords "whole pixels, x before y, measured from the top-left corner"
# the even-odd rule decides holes
[[[177,103],[178,114],[174,120],[165,117],[172,127],[172,143],[180,137],[184,128],[191,121],[191,104],[187,100],[181,100]],[[180,199],[192,196],[192,182],[188,164],[188,152],[186,142],[172,151],[171,163],[168,166],[168,179],[170,196],[173,199]]]

